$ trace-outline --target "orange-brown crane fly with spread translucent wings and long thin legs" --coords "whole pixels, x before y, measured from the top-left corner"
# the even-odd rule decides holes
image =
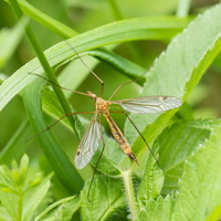
[[[74,48],[72,48],[72,49],[75,51]],[[45,77],[43,77],[39,74],[35,74],[63,90],[67,90],[73,93],[76,93],[76,94],[90,96],[95,102],[95,112],[65,114],[59,120],[56,120],[53,125],[51,125],[49,128],[54,126],[56,123],[59,123],[65,116],[75,115],[75,114],[87,114],[87,113],[94,114],[88,126],[86,127],[86,129],[84,131],[84,135],[80,141],[80,145],[77,147],[76,155],[75,155],[75,166],[76,166],[76,168],[82,169],[91,161],[92,157],[94,156],[94,154],[96,152],[96,150],[99,146],[101,140],[103,141],[103,147],[104,147],[104,140],[102,137],[102,125],[97,120],[101,118],[101,115],[103,115],[106,118],[106,120],[110,127],[110,131],[112,131],[114,139],[119,144],[119,147],[131,160],[138,162],[135,155],[133,154],[133,151],[130,149],[130,146],[129,146],[127,139],[125,138],[125,136],[123,135],[120,129],[117,127],[114,119],[110,117],[110,113],[124,113],[131,123],[131,119],[128,117],[127,112],[134,113],[134,114],[162,113],[162,112],[179,107],[181,105],[181,101],[173,96],[146,96],[146,97],[129,98],[129,99],[110,101],[112,97],[119,91],[119,88],[122,88],[125,84],[128,84],[128,83],[131,83],[135,81],[127,82],[125,84],[119,85],[117,87],[117,90],[112,94],[109,99],[105,101],[102,98],[103,91],[104,91],[104,82],[84,63],[84,61],[82,60],[82,57],[78,55],[78,53],[76,51],[75,51],[75,53],[76,53],[76,56],[86,66],[86,69],[102,83],[101,97],[96,96],[95,94],[93,94],[90,91],[87,93],[82,93],[82,92],[76,92],[76,91],[72,91],[72,90],[62,87],[62,86],[55,84],[54,82],[51,82],[50,80],[46,80]],[[109,112],[109,105],[112,105],[112,104],[117,104],[117,105],[122,106],[126,112],[124,112],[124,110]],[[46,128],[46,129],[49,129],[49,128]],[[136,126],[135,126],[135,129],[139,133],[139,130],[137,129]],[[45,130],[43,130],[43,131],[45,131]],[[41,133],[43,133],[43,131],[41,131]],[[39,133],[39,134],[41,134],[41,133]],[[143,135],[140,133],[139,133],[139,135],[146,143],[146,139],[143,137]],[[147,143],[146,143],[146,145],[147,145]],[[147,145],[147,147],[148,147],[148,145]],[[150,149],[150,151],[151,151],[151,149]]]

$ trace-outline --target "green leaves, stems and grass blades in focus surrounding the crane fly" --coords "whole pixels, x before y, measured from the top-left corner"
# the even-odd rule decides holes
[[[67,98],[72,96],[72,92],[65,92],[66,98],[60,87],[52,85],[52,90],[50,86],[45,86],[44,80],[30,74],[46,73],[49,80],[56,82],[54,70],[71,62],[62,71],[60,70],[61,74],[57,77],[60,84],[78,91],[82,87],[81,83],[85,82],[85,84],[87,83],[85,88],[88,90],[92,80],[85,81],[85,78],[91,77],[90,73],[82,62],[76,60],[74,50],[81,56],[97,57],[118,71],[116,77],[113,77],[113,70],[108,73],[105,67],[101,77],[107,80],[105,84],[110,81],[109,86],[113,91],[117,87],[115,87],[116,82],[117,85],[120,84],[118,83],[120,77],[124,76],[124,82],[125,80],[128,82],[128,78],[130,81],[140,76],[136,82],[139,90],[141,88],[140,96],[169,95],[176,96],[185,103],[188,97],[191,97],[191,93],[213,60],[219,56],[221,49],[221,4],[197,15],[190,23],[189,18],[175,15],[134,18],[130,15],[133,19],[123,19],[108,24],[105,21],[104,25],[94,23],[94,27],[97,28],[90,28],[84,33],[77,34],[75,30],[45,15],[23,0],[7,2],[19,18],[27,14],[51,30],[53,32],[51,35],[56,33],[60,38],[64,38],[63,41],[52,44],[43,54],[36,41],[38,38],[33,34],[34,28],[27,23],[21,25],[19,22],[18,30],[11,31],[17,35],[14,44],[8,49],[8,53],[2,55],[4,56],[2,65],[6,65],[6,61],[21,38],[21,27],[27,25],[25,34],[39,60],[35,57],[27,62],[6,81],[2,78],[0,109],[7,108],[12,98],[19,94],[23,99],[25,114],[34,134],[48,128],[44,113],[54,122],[64,113],[76,112],[74,108],[81,112],[78,106],[86,103],[83,102],[83,98],[75,98],[75,106],[71,106]],[[144,13],[141,10],[144,6],[141,7],[140,2],[137,1],[136,6]],[[168,2],[171,3],[171,1]],[[91,4],[84,4],[84,1],[78,3],[83,9],[85,7],[93,8],[93,2]],[[105,6],[101,4],[99,9],[105,11]],[[119,10],[120,7],[117,8],[115,1],[112,1],[109,6],[113,7],[116,18],[124,18]],[[178,14],[188,11],[189,1],[182,6],[186,7],[181,7],[180,3]],[[126,4],[124,10],[127,8],[129,4]],[[130,10],[130,14],[134,14],[133,7]],[[25,20],[24,17],[22,18]],[[93,13],[88,15],[87,22],[92,20],[91,18],[93,18]],[[108,14],[104,18],[108,20]],[[86,27],[86,22],[84,24]],[[179,34],[175,36],[177,33]],[[9,33],[10,38],[11,35]],[[6,36],[1,35],[1,38],[4,38],[2,42],[7,42]],[[145,73],[146,69],[140,65],[138,60],[144,59],[149,63],[151,60],[146,54],[137,56],[135,44],[130,42],[140,40],[166,42],[171,38],[173,39],[167,50],[155,60],[150,71]],[[127,52],[131,52],[133,61],[126,59],[124,53],[123,55],[118,54],[117,50],[120,51],[120,46],[125,46],[123,52],[127,50]],[[113,50],[116,52],[114,53]],[[156,57],[156,54],[150,52],[150,56]],[[91,69],[98,64],[98,61],[92,57],[83,57],[83,61]],[[101,85],[98,87],[101,88]],[[106,87],[105,85],[105,90]],[[131,88],[134,90],[134,87]],[[110,90],[105,91],[105,95],[108,93],[110,95]],[[126,96],[123,98],[130,96],[130,90],[126,92],[124,88],[120,90],[119,92]],[[133,90],[131,96],[134,96]],[[22,93],[20,93],[21,91]],[[70,154],[65,147],[71,143],[71,148],[75,147],[74,149],[76,149],[77,138],[82,137],[88,120],[83,116],[71,117],[70,122],[62,120],[57,134],[54,135],[51,130],[39,134],[36,138],[41,146],[41,152],[32,154],[35,146],[33,145],[32,148],[31,145],[24,145],[24,140],[32,134],[25,119],[2,148],[0,162],[9,165],[13,158],[19,160],[24,151],[30,151],[31,162],[32,160],[33,162],[38,161],[40,167],[34,168],[34,164],[29,165],[27,155],[21,158],[20,165],[13,160],[11,169],[8,166],[0,167],[0,220],[67,221],[78,220],[80,217],[81,220],[218,220],[221,217],[221,175],[219,169],[221,122],[212,117],[194,119],[189,114],[188,109],[190,108],[188,104],[185,104],[179,112],[171,109],[164,114],[130,115],[136,127],[150,144],[159,166],[149,155],[147,146],[129,120],[125,123],[124,134],[131,144],[139,166],[131,162],[122,152],[113,138],[104,135],[105,150],[92,186],[91,179],[88,179],[92,177],[90,166],[83,172],[75,169],[70,160],[70,158],[73,159],[73,152]],[[82,109],[82,112],[86,110]],[[64,136],[70,133],[71,128],[75,133],[75,140],[70,141],[65,138],[63,141],[59,141],[60,134],[64,130],[62,134]],[[101,148],[93,157],[92,166],[96,165]],[[41,171],[41,173],[35,173],[35,171]],[[49,192],[50,183],[53,183],[53,189]],[[52,203],[50,202],[51,204],[49,199],[53,200]]]

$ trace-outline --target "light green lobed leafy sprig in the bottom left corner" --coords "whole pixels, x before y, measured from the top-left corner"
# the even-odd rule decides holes
[[[7,166],[0,167],[1,204],[12,220],[30,220],[50,187],[49,179],[52,176],[41,180],[40,185],[30,186],[38,175],[33,176],[31,172],[28,175],[28,169],[29,157],[27,155],[21,158],[20,166],[13,160],[12,169]]]

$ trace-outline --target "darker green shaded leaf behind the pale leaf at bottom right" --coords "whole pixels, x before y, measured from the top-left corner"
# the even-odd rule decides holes
[[[217,119],[181,120],[162,131],[158,138],[159,165],[165,173],[162,194],[171,193],[178,188],[185,161],[200,145],[204,144],[219,122]]]

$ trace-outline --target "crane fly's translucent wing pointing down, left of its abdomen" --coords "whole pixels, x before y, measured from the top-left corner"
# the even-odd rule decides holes
[[[82,169],[90,162],[99,146],[101,136],[101,125],[97,122],[96,113],[90,122],[76,150],[74,160],[76,168]]]

